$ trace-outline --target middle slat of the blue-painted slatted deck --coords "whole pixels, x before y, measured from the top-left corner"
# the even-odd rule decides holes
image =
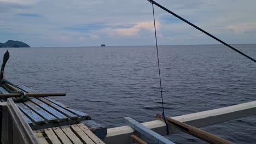
[[[57,117],[60,121],[67,121],[68,118],[66,116],[64,116],[62,113],[56,111],[55,109],[53,109],[52,107],[44,104],[42,101],[38,100],[38,99],[30,99],[34,104],[38,105],[39,107],[41,107],[43,110],[45,110],[46,112],[50,113],[51,115]]]

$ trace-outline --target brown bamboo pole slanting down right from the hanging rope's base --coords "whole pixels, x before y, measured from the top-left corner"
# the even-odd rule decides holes
[[[163,121],[163,119],[162,119],[163,117],[160,113],[158,113],[156,115],[156,117],[161,119],[161,121]],[[191,125],[179,122],[170,117],[165,117],[165,119],[166,119],[166,122],[168,124],[172,125],[173,127],[177,128],[181,131],[184,131],[185,133],[193,135],[193,136],[195,136],[203,141],[206,141],[208,143],[214,143],[214,144],[224,144],[224,143],[231,144],[232,143],[228,140],[222,139],[221,137],[218,137],[216,135],[213,135],[213,134],[203,131],[201,129],[197,129]]]

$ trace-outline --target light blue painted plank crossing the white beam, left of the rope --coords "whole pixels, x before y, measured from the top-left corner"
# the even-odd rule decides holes
[[[148,139],[150,139],[150,140],[152,140],[156,143],[159,143],[159,144],[166,144],[166,143],[174,144],[172,141],[166,139],[164,136],[161,136],[158,133],[155,133],[155,131],[153,131],[151,129],[148,129],[147,127],[145,127],[144,125],[142,125],[141,123],[135,121],[134,119],[132,119],[130,117],[125,117],[124,122],[127,125],[129,125],[129,127],[135,129],[136,131],[138,131],[139,133],[148,137]]]

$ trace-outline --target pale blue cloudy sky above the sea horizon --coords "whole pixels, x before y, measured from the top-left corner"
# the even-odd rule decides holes
[[[229,44],[256,40],[255,0],[155,0]],[[218,44],[155,6],[159,45]],[[155,45],[147,0],[0,0],[0,42],[32,47]]]

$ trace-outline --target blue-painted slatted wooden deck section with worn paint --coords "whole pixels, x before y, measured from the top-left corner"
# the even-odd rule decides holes
[[[39,93],[24,85],[18,87],[26,93]],[[0,87],[0,93],[9,92]],[[33,130],[77,124],[80,121],[91,119],[88,114],[70,109],[48,97],[30,98],[28,101],[15,104]]]

